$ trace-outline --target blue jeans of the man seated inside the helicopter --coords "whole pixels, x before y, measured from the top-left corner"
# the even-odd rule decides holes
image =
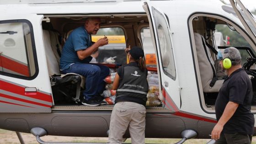
[[[101,64],[75,63],[69,66],[69,69],[62,70],[61,73],[75,73],[86,78],[83,95],[84,99],[88,101],[105,89],[104,79],[109,75],[109,68]]]

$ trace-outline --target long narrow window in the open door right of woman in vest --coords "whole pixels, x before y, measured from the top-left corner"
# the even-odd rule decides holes
[[[171,37],[169,34],[168,25],[165,21],[165,17],[157,10],[153,11],[155,19],[155,26],[157,27],[157,37],[159,40],[159,47],[161,53],[162,67],[165,75],[176,78],[176,69],[174,64],[173,52],[171,47]]]

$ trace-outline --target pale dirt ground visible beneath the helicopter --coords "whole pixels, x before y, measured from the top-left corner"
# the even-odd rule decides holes
[[[30,133],[21,133],[25,144],[39,144],[36,138]],[[107,143],[107,138],[85,138],[85,137],[62,137],[62,136],[44,136],[41,138],[45,142],[73,142],[73,143]],[[146,139],[146,143],[155,144],[173,144],[179,139]],[[190,139],[184,144],[206,144],[210,139]],[[130,139],[126,140],[131,143]],[[0,129],[0,144],[20,144],[20,141],[13,131]],[[252,144],[256,144],[256,137],[253,138]]]

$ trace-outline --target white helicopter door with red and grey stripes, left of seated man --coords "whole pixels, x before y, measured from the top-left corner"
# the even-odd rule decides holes
[[[28,13],[0,16],[0,112],[51,112],[42,19]]]

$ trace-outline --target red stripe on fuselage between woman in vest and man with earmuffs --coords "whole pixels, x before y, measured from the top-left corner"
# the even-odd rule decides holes
[[[210,123],[217,123],[216,120],[212,120],[212,119],[208,119],[208,118],[204,118],[204,117],[198,117],[192,114],[187,114],[184,112],[179,111],[178,107],[176,106],[176,104],[172,101],[171,96],[168,95],[168,93],[165,91],[165,89],[162,89],[162,93],[163,96],[165,97],[165,103],[169,103],[171,105],[171,107],[175,110],[175,114],[176,116],[180,116],[180,117],[187,117],[187,118],[191,118],[191,119],[197,119],[200,121],[205,121],[205,122],[210,122]],[[165,104],[166,106],[166,104]],[[168,106],[168,105],[167,105]]]

